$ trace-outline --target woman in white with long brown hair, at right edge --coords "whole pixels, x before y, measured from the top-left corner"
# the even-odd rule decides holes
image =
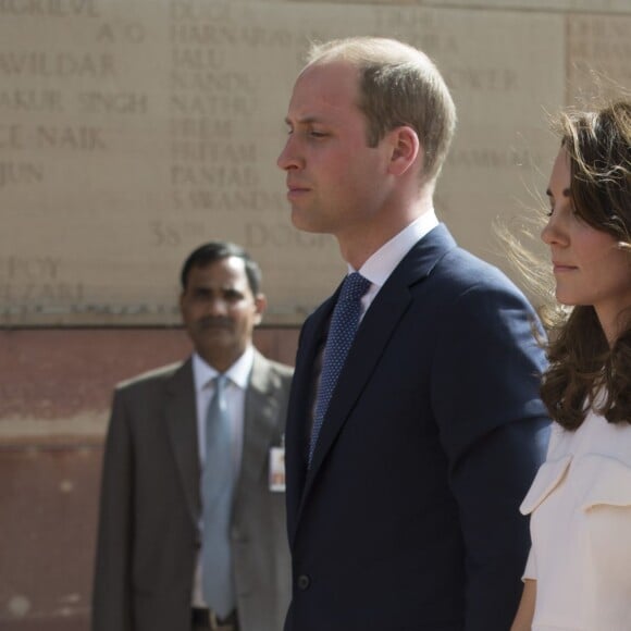
[[[631,101],[565,112],[549,186],[556,298],[542,398],[555,423],[521,511],[512,631],[631,629]],[[568,314],[569,311],[569,314]]]

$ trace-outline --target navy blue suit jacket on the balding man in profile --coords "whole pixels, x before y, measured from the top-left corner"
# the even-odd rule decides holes
[[[548,434],[535,312],[434,228],[366,312],[307,469],[336,295],[302,327],[289,398],[285,631],[507,631]]]

